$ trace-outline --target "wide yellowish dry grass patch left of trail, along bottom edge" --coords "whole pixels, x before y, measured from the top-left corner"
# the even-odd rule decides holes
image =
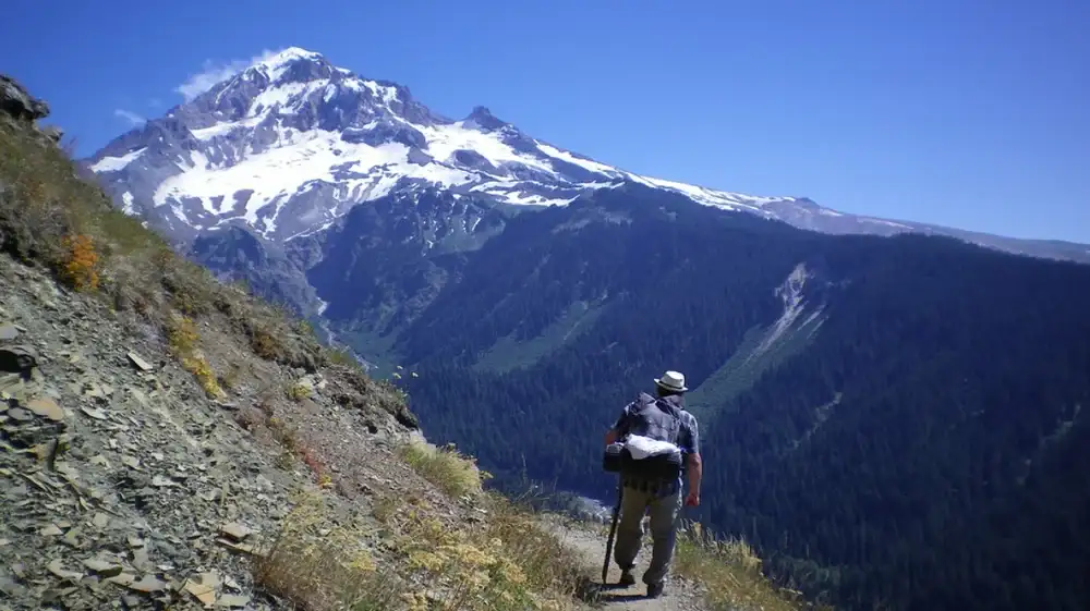
[[[420,497],[382,496],[346,516],[305,494],[255,557],[259,587],[298,609],[574,611],[578,562],[535,517],[500,497],[458,520]]]

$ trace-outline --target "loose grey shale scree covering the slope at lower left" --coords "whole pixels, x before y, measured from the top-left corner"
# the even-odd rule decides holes
[[[8,257],[0,294],[0,591],[13,608],[267,608],[251,604],[251,533],[271,531],[307,478],[276,468],[231,421],[237,406],[198,399],[161,346],[104,323],[98,304]]]

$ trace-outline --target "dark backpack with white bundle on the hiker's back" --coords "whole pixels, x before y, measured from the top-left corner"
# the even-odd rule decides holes
[[[632,436],[677,444],[681,432],[681,416],[670,402],[641,393],[626,410],[626,432],[606,447],[603,468],[610,473],[643,480],[669,480],[683,471],[683,451],[637,459],[628,447]]]

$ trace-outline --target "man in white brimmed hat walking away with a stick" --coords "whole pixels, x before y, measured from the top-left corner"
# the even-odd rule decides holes
[[[655,379],[655,396],[640,392],[632,403],[625,406],[613,428],[606,432],[606,445],[623,441],[632,433],[657,441],[673,443],[681,449],[681,464],[676,475],[646,475],[629,466],[620,473],[622,488],[620,522],[617,526],[617,543],[614,560],[621,570],[620,585],[635,584],[632,569],[640,552],[643,538],[643,515],[650,509],[651,535],[654,547],[651,564],[643,574],[647,585],[647,597],[657,598],[663,594],[666,574],[674,559],[678,518],[681,513],[681,474],[689,479],[689,492],[685,504],[700,504],[700,436],[697,418],[685,411],[685,376],[678,371],[666,371]],[[640,463],[631,461],[629,465]]]

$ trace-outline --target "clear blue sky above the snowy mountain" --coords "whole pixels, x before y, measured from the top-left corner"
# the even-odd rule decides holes
[[[299,46],[640,173],[1090,242],[1086,0],[9,4],[0,71],[84,155],[203,69]]]

